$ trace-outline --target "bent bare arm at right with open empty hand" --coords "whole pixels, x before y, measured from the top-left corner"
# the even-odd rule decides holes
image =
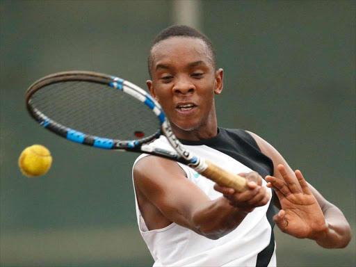
[[[279,152],[251,133],[261,152],[273,161],[273,177],[266,177],[275,190],[281,211],[273,218],[276,225],[298,238],[310,238],[323,248],[344,248],[351,239],[350,225],[343,213],[307,184],[299,170],[293,172]]]

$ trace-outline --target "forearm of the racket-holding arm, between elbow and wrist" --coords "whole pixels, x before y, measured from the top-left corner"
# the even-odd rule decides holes
[[[195,209],[192,223],[195,232],[218,239],[232,232],[252,209],[232,207],[225,197],[204,203]]]

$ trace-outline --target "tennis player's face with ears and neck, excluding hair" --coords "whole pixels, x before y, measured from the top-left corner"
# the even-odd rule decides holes
[[[223,70],[215,72],[207,45],[197,38],[172,37],[156,44],[152,54],[147,86],[172,128],[195,131],[216,124],[213,95],[223,89]]]

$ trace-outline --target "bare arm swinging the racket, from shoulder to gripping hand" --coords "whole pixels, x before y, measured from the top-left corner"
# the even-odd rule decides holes
[[[256,175],[251,173],[250,176]],[[216,186],[226,197],[210,200],[186,178],[177,163],[156,156],[140,159],[133,169],[133,179],[136,193],[142,196],[138,201],[141,211],[147,203],[159,211],[158,215],[152,209],[142,212],[147,226],[152,229],[161,227],[162,221],[166,225],[174,222],[217,239],[240,225],[254,207],[268,202],[261,182],[248,182],[250,191],[244,193]]]

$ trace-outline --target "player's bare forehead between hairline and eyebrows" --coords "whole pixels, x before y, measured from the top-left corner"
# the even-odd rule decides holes
[[[160,63],[190,63],[201,60],[211,63],[207,44],[199,39],[174,36],[157,43],[152,48],[153,66]]]

